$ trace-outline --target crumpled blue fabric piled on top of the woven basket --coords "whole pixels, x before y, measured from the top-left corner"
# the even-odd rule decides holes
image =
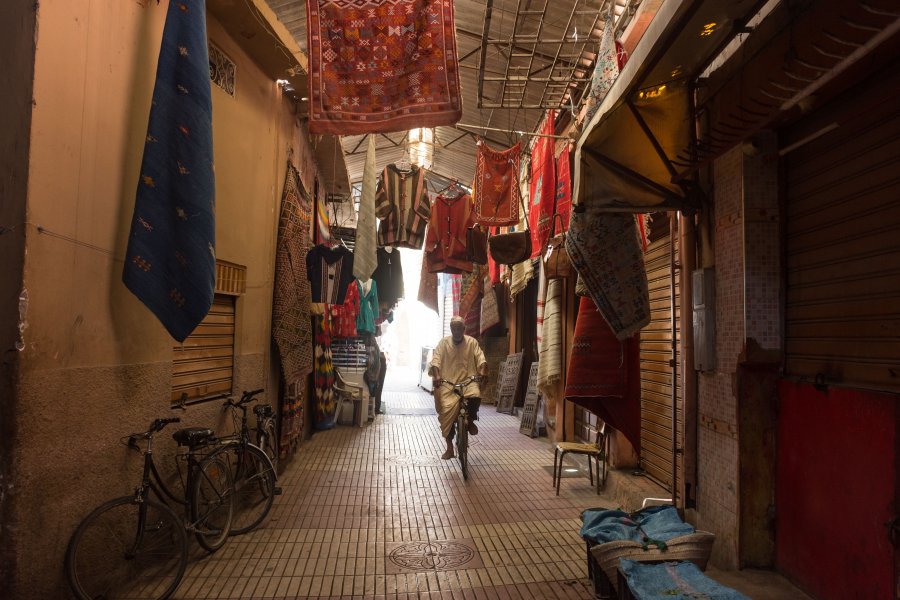
[[[636,513],[588,510],[582,521],[581,537],[595,544],[615,540],[647,544],[694,533],[693,525],[682,521],[674,506],[653,506]]]

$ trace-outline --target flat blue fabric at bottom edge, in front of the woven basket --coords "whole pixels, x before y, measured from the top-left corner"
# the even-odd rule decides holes
[[[710,579],[692,562],[651,564],[621,558],[619,566],[632,595],[642,600],[750,600]]]

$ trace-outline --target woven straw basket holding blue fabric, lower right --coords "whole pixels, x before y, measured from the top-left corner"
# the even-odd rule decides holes
[[[619,568],[619,559],[627,558],[638,562],[664,562],[689,560],[706,570],[709,554],[712,552],[715,534],[708,531],[696,531],[689,535],[674,537],[666,542],[666,550],[660,550],[656,546],[650,546],[644,550],[637,542],[626,540],[606,542],[591,548],[594,560],[609,578],[613,587],[617,587],[618,577],[616,571]]]

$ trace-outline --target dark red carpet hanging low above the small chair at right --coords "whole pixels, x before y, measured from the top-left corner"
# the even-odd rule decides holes
[[[636,452],[641,448],[640,363],[637,336],[616,339],[594,302],[581,298],[565,398],[625,434]]]

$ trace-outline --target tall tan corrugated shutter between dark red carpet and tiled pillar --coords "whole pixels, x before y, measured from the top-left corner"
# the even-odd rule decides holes
[[[680,315],[680,292],[675,273],[675,307],[671,288],[672,269],[669,218],[654,215],[650,244],[644,254],[647,282],[650,288],[651,322],[641,330],[641,468],[669,491],[672,490],[672,319],[676,325]],[[676,249],[677,252],[677,249]],[[677,256],[677,254],[676,254]],[[676,336],[680,331],[676,331]],[[680,340],[676,338],[676,343]],[[676,359],[676,360],[680,360]],[[678,443],[681,447],[683,405],[678,393]],[[679,454],[680,463],[680,454]],[[681,465],[679,464],[679,472]],[[680,476],[679,476],[680,477]]]

